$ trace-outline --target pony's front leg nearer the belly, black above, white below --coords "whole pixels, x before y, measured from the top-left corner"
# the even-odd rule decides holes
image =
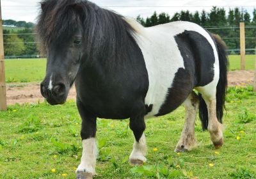
[[[144,113],[130,119],[130,128],[134,134],[133,150],[129,157],[131,165],[143,165],[146,162],[147,145],[146,138],[143,134],[146,125],[144,121]]]

